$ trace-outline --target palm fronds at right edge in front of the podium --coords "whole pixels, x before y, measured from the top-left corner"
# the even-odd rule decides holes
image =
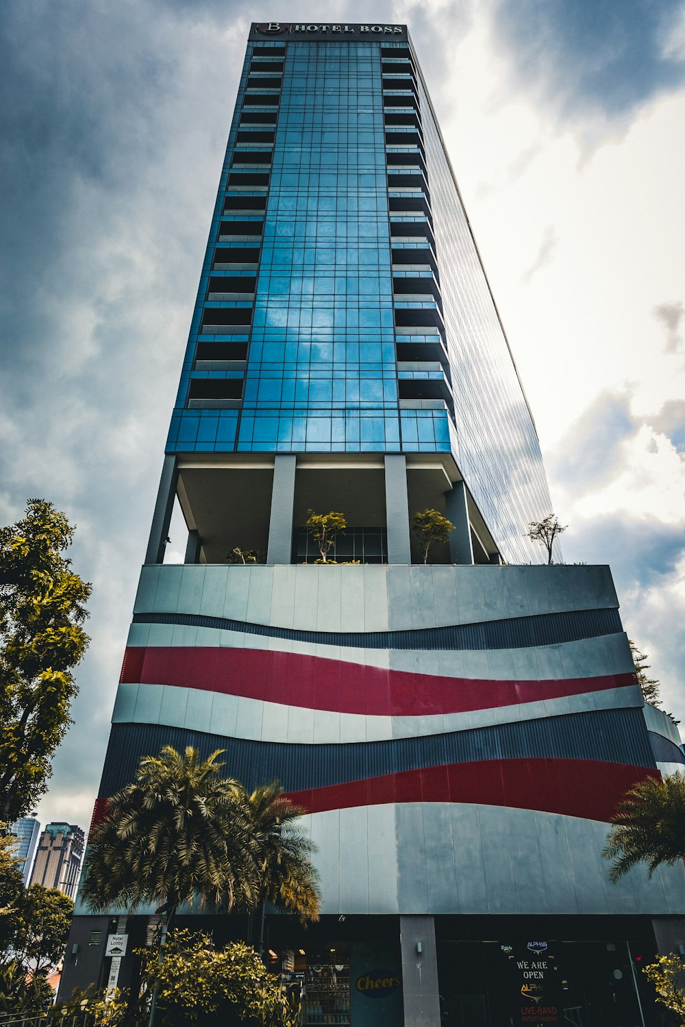
[[[660,864],[685,860],[685,773],[646,777],[625,793],[611,823],[602,854],[614,861],[612,881],[638,863],[648,865],[651,877]]]

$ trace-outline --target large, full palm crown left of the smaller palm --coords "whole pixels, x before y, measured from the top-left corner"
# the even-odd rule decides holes
[[[255,906],[257,845],[240,786],[219,776],[219,755],[202,761],[195,749],[164,746],[141,760],[91,832],[82,891],[91,909],[173,911],[196,896],[219,909]]]

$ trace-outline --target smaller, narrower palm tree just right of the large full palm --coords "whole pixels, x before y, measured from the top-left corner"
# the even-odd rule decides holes
[[[312,843],[296,822],[306,812],[283,794],[277,781],[244,795],[259,845],[259,950],[264,949],[264,906],[296,913],[302,922],[318,919],[316,872],[309,862]]]

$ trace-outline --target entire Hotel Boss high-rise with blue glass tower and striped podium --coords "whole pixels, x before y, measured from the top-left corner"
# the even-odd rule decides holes
[[[454,525],[427,565],[424,509]],[[346,519],[334,565],[312,510]],[[406,26],[253,25],[96,815],[165,744],[279,778],[322,918],[269,916],[269,959],[311,1027],[637,1023],[636,946],[685,942],[682,870],[601,858],[680,738],[608,568],[540,564],[549,511]],[[63,988],[147,920],[77,907]]]

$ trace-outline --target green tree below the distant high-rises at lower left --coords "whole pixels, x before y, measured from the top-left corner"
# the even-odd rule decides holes
[[[65,953],[73,909],[72,900],[56,888],[42,884],[23,888],[15,903],[13,937],[9,950],[0,952],[0,963],[9,953],[29,974],[56,966]]]

